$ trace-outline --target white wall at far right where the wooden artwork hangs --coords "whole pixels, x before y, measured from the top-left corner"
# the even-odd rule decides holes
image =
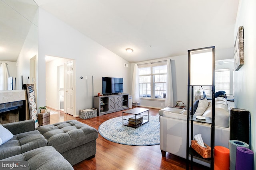
[[[256,1],[240,0],[234,42],[239,26],[244,27],[244,65],[235,71],[235,107],[247,109],[251,116],[250,149],[254,152],[256,165]]]

